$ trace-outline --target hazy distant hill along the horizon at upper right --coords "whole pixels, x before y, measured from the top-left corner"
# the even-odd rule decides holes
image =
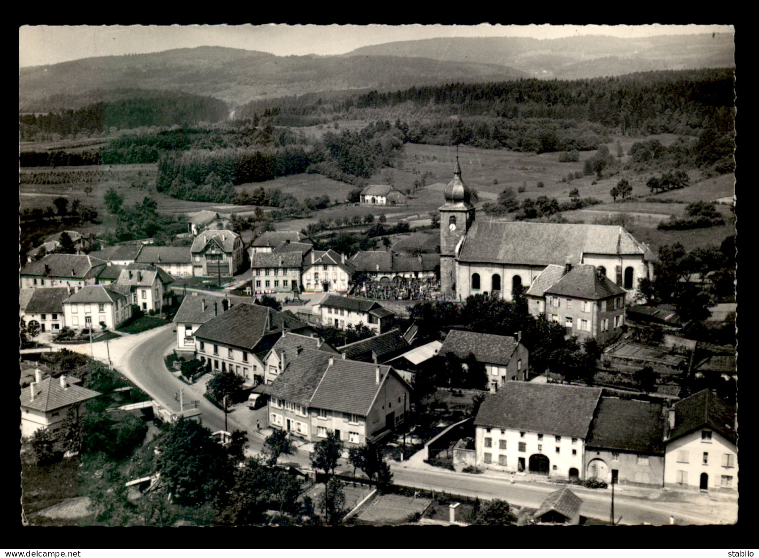
[[[619,76],[636,71],[684,70],[735,65],[730,33],[664,35],[635,39],[574,36],[453,37],[365,46],[348,56],[403,56],[440,61],[503,64],[529,76],[575,79]]]

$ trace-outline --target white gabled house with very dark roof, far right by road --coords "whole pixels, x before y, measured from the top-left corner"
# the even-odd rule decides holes
[[[735,407],[701,390],[669,409],[664,485],[702,491],[738,490]]]

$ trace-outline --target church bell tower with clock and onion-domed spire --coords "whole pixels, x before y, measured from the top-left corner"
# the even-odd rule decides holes
[[[440,290],[454,293],[456,282],[456,246],[474,222],[474,205],[469,202],[470,192],[461,180],[461,167],[456,157],[453,180],[446,187],[446,203],[440,212]]]

